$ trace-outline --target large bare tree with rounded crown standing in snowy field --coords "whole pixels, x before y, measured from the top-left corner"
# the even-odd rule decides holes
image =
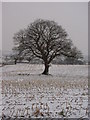
[[[49,74],[50,63],[56,56],[75,57],[68,34],[54,21],[38,19],[16,33],[14,40],[19,54],[30,54],[43,60],[42,74],[45,75]]]

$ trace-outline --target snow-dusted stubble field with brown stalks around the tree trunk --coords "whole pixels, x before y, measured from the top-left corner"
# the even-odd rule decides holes
[[[88,66],[17,64],[2,67],[2,113],[11,117],[88,117]]]

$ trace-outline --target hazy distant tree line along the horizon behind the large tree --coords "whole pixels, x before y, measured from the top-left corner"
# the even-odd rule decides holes
[[[43,64],[43,61],[38,57],[31,58],[30,56],[18,56],[18,55],[7,55],[3,57],[2,63],[5,65],[8,64],[17,64],[17,63],[29,63],[29,64]],[[85,65],[86,61],[84,59],[73,59],[64,56],[56,57],[52,64],[60,65]]]

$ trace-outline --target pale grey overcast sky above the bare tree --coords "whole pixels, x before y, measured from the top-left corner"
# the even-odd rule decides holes
[[[67,31],[75,46],[88,55],[88,3],[19,3],[7,2],[2,6],[2,48],[11,51],[14,33],[34,20],[54,20]]]

